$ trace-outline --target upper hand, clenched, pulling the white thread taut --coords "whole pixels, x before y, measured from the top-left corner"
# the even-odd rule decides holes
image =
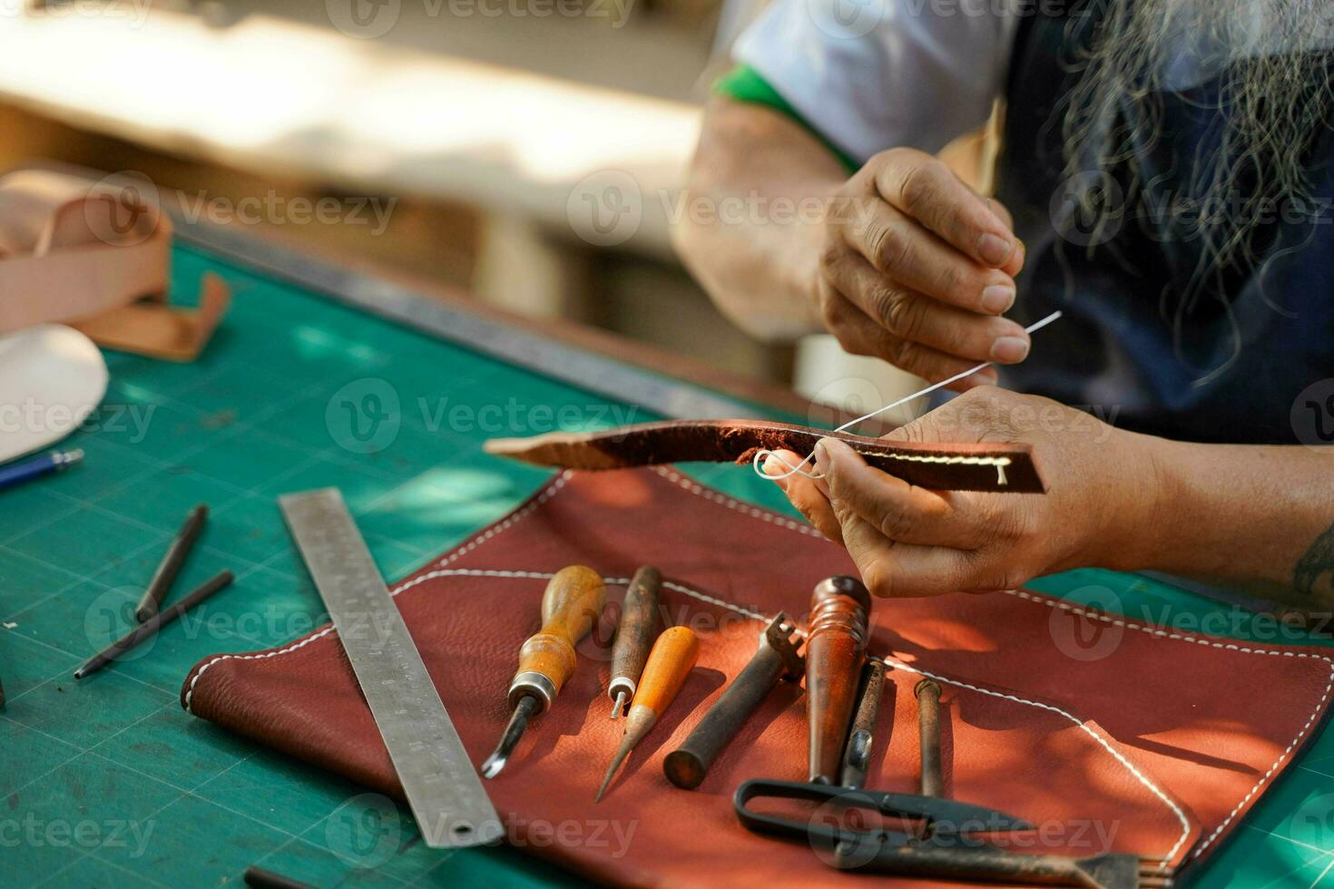
[[[934,156],[874,156],[835,193],[823,227],[815,299],[848,352],[932,383],[1027,357],[1029,335],[999,317],[1014,303],[1023,244],[1005,208]],[[951,388],[995,379],[987,368]]]

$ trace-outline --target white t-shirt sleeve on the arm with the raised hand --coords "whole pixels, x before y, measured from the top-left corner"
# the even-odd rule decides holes
[[[732,55],[864,163],[984,124],[1018,25],[1011,0],[774,0]]]

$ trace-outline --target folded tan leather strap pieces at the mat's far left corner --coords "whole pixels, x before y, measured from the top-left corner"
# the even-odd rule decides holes
[[[205,275],[197,309],[167,305],[171,239],[171,220],[128,180],[0,177],[0,333],[55,321],[108,348],[193,360],[231,292]]]

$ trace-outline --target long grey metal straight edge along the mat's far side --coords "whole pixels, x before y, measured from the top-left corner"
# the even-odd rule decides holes
[[[175,213],[172,219],[176,223],[175,236],[181,241],[316,291],[370,315],[424,331],[616,403],[634,404],[678,420],[766,419],[762,411],[744,401],[718,396],[540,333],[447,305],[392,281],[338,268],[264,239],[216,225],[188,223]]]

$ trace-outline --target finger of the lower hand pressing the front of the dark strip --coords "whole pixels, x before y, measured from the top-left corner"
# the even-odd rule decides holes
[[[918,488],[874,469],[838,439],[822,439],[815,454],[828,501],[856,513],[886,538],[955,549],[986,542],[967,497]]]

